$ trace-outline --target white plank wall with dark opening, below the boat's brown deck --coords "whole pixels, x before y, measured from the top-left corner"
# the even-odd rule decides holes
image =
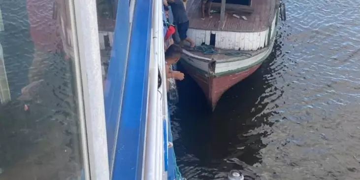
[[[194,39],[196,46],[206,44],[219,49],[255,51],[269,44],[269,39],[276,32],[274,30],[277,18],[274,16],[271,26],[261,32],[210,31],[190,28],[188,36]]]

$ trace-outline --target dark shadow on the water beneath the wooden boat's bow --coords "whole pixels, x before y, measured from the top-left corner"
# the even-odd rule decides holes
[[[222,96],[214,112],[207,106],[200,87],[188,74],[185,80],[177,83],[180,98],[178,108],[172,116],[175,126],[173,133],[180,137],[175,141],[175,147],[185,177],[213,179],[212,177],[219,177],[219,173],[249,168],[262,162],[259,151],[266,144],[262,144],[261,138],[267,132],[249,132],[264,124],[273,124],[267,122],[271,113],[262,114],[261,118],[254,117],[266,107],[266,103],[259,101],[259,98],[272,85],[264,74],[271,73],[272,70],[268,67],[276,54],[279,54],[278,51],[281,51],[280,47],[275,41],[273,52],[262,66],[230,88]],[[181,65],[179,70],[185,72]],[[176,127],[177,124],[179,127]],[[189,170],[189,167],[193,169]],[[256,178],[255,174],[250,173],[249,176]]]

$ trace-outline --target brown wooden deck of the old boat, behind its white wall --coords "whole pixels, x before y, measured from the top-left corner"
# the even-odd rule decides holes
[[[187,11],[190,19],[189,28],[201,30],[222,30],[231,32],[260,32],[266,30],[274,17],[274,8],[278,0],[253,0],[251,14],[246,13],[225,13],[225,23],[220,23],[220,13],[213,13],[212,18],[205,15],[205,20],[201,20],[201,1],[188,0]],[[219,6],[213,2],[212,9]],[[206,13],[206,12],[205,12]],[[234,17],[232,14],[240,16]],[[245,16],[247,20],[241,18]]]

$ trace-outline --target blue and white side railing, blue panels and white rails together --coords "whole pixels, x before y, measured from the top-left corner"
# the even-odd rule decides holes
[[[130,8],[124,6],[129,3]],[[167,98],[161,8],[161,0],[118,3],[105,85],[113,180],[166,179]],[[163,82],[158,89],[159,70]]]

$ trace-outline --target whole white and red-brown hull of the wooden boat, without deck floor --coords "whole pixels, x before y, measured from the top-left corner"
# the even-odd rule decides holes
[[[262,5],[275,7],[276,3],[266,0],[266,4]],[[277,8],[266,12],[269,26],[262,26],[258,31],[234,32],[190,26],[188,36],[195,40],[196,46],[212,45],[217,50],[215,54],[183,50],[180,61],[205,93],[212,110],[230,87],[255,72],[269,56],[275,41],[278,13]],[[229,51],[241,52],[243,56],[231,55],[227,53]]]

